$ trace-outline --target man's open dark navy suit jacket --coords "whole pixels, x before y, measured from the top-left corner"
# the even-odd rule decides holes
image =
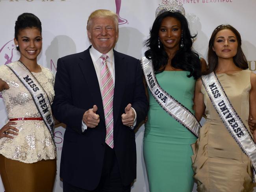
[[[90,48],[90,47],[89,47]],[[58,59],[55,79],[54,116],[67,125],[61,153],[60,177],[71,185],[93,190],[100,181],[105,151],[106,125],[100,87],[89,48]],[[145,119],[148,102],[140,61],[114,50],[113,98],[114,150],[123,185],[136,178],[135,133],[122,124],[128,103],[137,113],[136,126]],[[100,122],[82,132],[85,111],[97,105]]]

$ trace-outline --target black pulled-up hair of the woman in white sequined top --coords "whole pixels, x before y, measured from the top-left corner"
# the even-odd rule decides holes
[[[42,33],[41,21],[32,13],[22,13],[19,15],[17,21],[15,22],[14,38],[18,40],[19,31],[26,28],[37,28],[39,29],[40,33]],[[19,47],[17,47],[17,50],[20,51]]]

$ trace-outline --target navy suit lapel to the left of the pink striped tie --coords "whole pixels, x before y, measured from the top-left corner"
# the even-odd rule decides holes
[[[94,105],[97,105],[98,107],[98,111],[96,113],[99,114],[100,120],[103,120],[105,124],[100,86],[98,84],[98,78],[96,75],[95,67],[93,65],[93,60],[91,59],[89,52],[90,48],[91,46],[84,51],[83,55],[80,56],[79,66],[88,85],[88,87],[85,87],[85,89],[87,89],[86,94],[91,94],[91,99],[95,103]],[[93,106],[91,106],[91,108],[92,107]]]

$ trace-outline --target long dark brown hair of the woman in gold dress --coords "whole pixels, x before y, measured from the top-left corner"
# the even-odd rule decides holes
[[[216,53],[213,51],[212,48],[213,48],[213,44],[215,41],[215,36],[217,35],[217,33],[219,31],[224,30],[224,29],[228,29],[236,35],[238,46],[237,46],[237,54],[233,57],[233,61],[234,61],[235,65],[241,69],[248,68],[248,63],[247,63],[245,54],[243,54],[243,50],[241,48],[242,43],[241,43],[240,33],[231,25],[220,25],[220,26],[217,26],[217,28],[215,28],[215,30],[213,30],[213,32],[211,34],[211,38],[210,38],[209,46],[208,46],[208,69],[206,70],[206,72],[204,74],[209,74],[209,73],[215,71],[218,66],[218,56],[216,55]]]

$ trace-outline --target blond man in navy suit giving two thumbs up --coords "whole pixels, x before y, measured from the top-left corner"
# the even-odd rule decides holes
[[[136,127],[148,102],[140,61],[113,47],[118,17],[96,10],[91,46],[58,59],[54,116],[67,125],[61,154],[64,192],[129,192],[136,178]]]

